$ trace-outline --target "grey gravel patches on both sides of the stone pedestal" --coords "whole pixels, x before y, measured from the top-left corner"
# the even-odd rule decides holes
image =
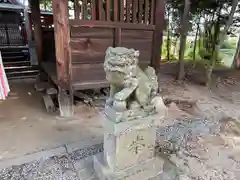
[[[161,128],[157,132],[157,143],[166,149],[177,147],[179,150],[193,137],[214,134],[219,131],[218,123],[213,124],[203,119],[192,121],[178,121],[172,126]],[[172,142],[166,146],[159,142]],[[175,149],[176,150],[176,149]],[[102,144],[86,147],[40,161],[23,164],[0,170],[1,180],[94,180],[96,179],[92,167],[92,155],[103,151]],[[177,176],[176,167],[169,160],[165,164],[165,176]]]

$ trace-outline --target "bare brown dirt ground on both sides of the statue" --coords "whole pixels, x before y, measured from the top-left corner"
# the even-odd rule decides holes
[[[236,166],[238,165],[235,169],[239,170],[240,155],[236,153],[240,148],[240,81],[238,77],[240,77],[239,72],[219,76],[216,87],[209,90],[191,80],[179,83],[170,75],[160,75],[161,95],[168,106],[168,116],[165,119],[168,124],[194,118],[207,118],[216,123],[222,119],[230,119],[221,126],[221,132],[217,136],[209,135],[202,139],[200,137],[191,139],[189,144],[195,154],[189,154],[186,146],[179,152],[187,152],[188,156],[185,158],[180,155],[180,159],[186,160],[191,156],[189,161],[195,163],[195,161],[199,162],[198,159],[201,156],[205,158],[209,153],[216,155],[222,152],[224,155],[214,156],[216,161],[213,162],[217,163],[217,166],[227,167],[226,163],[233,164],[233,160],[229,160],[231,157]],[[41,94],[35,91],[33,85],[32,81],[11,82],[9,98],[0,102],[0,160],[50,149],[81,139],[102,136],[101,108],[79,103],[75,107],[76,113],[73,119],[62,119],[58,113],[46,112]],[[205,144],[205,147],[200,146],[201,144]],[[194,160],[191,159],[193,157]],[[226,163],[219,158],[226,160]],[[176,154],[170,159],[173,159],[176,164],[181,162]],[[210,163],[204,162],[207,166]],[[179,164],[179,166],[182,165]],[[212,166],[215,167],[216,164]],[[207,167],[204,166],[204,168]]]

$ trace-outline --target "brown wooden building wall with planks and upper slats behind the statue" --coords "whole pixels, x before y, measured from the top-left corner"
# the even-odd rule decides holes
[[[103,62],[108,47],[127,47],[140,51],[140,64],[159,65],[162,23],[156,26],[164,0],[85,0],[74,1],[70,24],[72,84],[74,89],[103,87]],[[88,2],[88,3],[87,3]],[[157,3],[156,3],[157,2]],[[163,14],[164,15],[164,14]],[[155,55],[153,55],[155,53]],[[157,68],[156,68],[157,69]]]

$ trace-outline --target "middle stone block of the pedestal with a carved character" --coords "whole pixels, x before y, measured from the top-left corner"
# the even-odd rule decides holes
[[[152,158],[156,128],[134,130],[115,136],[104,134],[104,160],[112,171],[119,171]]]

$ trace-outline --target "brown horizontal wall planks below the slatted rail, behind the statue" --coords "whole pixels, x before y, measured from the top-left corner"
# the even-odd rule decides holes
[[[121,29],[121,46],[140,50],[140,64],[151,61],[153,31]],[[71,27],[72,83],[75,89],[93,87],[105,80],[103,62],[115,45],[115,28]],[[93,85],[93,86],[92,86]],[[81,87],[80,87],[81,86]]]

